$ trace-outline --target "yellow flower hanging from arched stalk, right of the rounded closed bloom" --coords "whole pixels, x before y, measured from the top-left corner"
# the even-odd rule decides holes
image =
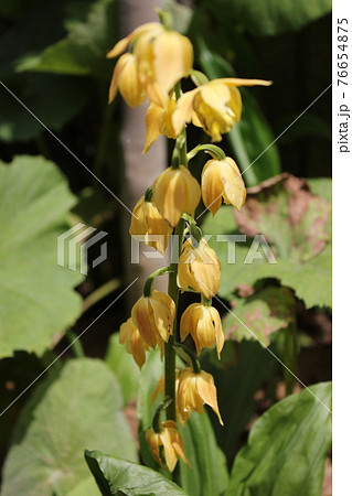
[[[214,216],[222,197],[227,205],[239,211],[246,200],[246,187],[236,162],[230,157],[206,162],[202,172],[202,197],[204,205]]]

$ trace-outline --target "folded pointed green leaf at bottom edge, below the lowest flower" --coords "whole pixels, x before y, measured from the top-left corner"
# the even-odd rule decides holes
[[[181,487],[146,466],[86,451],[86,462],[103,496],[186,496]]]

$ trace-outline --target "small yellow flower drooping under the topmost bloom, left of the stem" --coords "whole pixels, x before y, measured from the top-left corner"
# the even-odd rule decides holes
[[[146,142],[145,150],[146,153],[156,139],[159,138],[160,134],[166,134],[168,138],[177,139],[178,134],[175,134],[171,116],[173,110],[175,109],[175,98],[170,97],[168,105],[166,108],[160,107],[157,104],[151,103],[146,112]]]

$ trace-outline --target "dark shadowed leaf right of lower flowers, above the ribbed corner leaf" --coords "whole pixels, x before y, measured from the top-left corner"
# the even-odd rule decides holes
[[[222,360],[205,354],[202,367],[214,377],[217,400],[224,427],[214,418],[214,430],[218,445],[232,460],[239,438],[255,412],[255,393],[277,371],[278,363],[259,343],[243,341],[235,349],[233,342],[225,342]],[[233,354],[233,363],[220,368],[224,356]],[[216,362],[215,362],[216,360]],[[231,393],[230,393],[231,391]]]

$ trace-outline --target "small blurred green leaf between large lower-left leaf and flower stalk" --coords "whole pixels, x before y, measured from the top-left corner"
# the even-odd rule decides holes
[[[137,396],[140,371],[132,356],[126,353],[125,346],[119,343],[118,334],[114,334],[109,339],[105,362],[121,387],[124,403],[128,403]]]

